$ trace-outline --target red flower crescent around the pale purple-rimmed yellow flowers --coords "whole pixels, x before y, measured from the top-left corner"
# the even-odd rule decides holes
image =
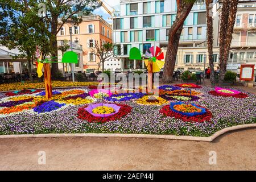
[[[118,120],[125,115],[129,114],[131,110],[133,109],[132,107],[125,105],[125,104],[117,104],[118,106],[121,106],[119,109],[119,112],[117,114],[110,115],[107,118],[101,118],[101,117],[94,117],[92,114],[90,114],[88,111],[85,110],[85,108],[88,105],[85,105],[83,107],[80,107],[77,114],[79,119],[86,120],[88,122],[96,122],[96,123],[105,123],[109,121],[115,121]]]

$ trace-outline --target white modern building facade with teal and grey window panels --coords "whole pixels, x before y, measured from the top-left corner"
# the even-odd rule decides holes
[[[129,51],[137,47],[145,53],[151,46],[166,49],[168,32],[176,18],[175,0],[129,1],[121,0],[120,11],[113,15],[113,42],[115,55],[121,59],[121,69],[144,69],[143,61],[129,60]],[[181,33],[180,51],[177,64],[187,64],[187,68],[196,64],[196,58],[184,58],[185,53],[194,47],[200,47],[205,52],[206,40],[206,9],[204,4],[193,6],[191,13],[185,20]],[[184,51],[188,49],[187,51]],[[184,55],[181,55],[184,53]],[[186,56],[188,57],[188,56]],[[201,64],[201,54],[198,63]]]

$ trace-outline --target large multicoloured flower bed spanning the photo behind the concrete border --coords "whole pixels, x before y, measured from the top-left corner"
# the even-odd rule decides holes
[[[90,90],[88,87],[55,89],[68,94],[55,94],[50,100],[37,96],[39,93],[10,97],[0,93],[0,134],[128,133],[208,137],[226,127],[256,123],[256,96],[243,90],[235,97],[216,97],[209,94],[212,88],[205,86],[200,92],[192,90],[192,97],[200,97],[200,100],[185,102],[207,108],[207,113],[193,117],[172,111],[170,102],[162,95],[156,97],[157,100],[149,100],[148,97],[152,97],[149,95],[123,100],[124,97],[119,97],[123,95],[117,94],[113,97],[122,101],[115,102],[121,108],[117,114],[106,118],[93,117],[85,108],[103,101],[113,104],[114,100],[89,97]],[[176,96],[178,100],[190,97],[186,90],[160,89],[159,93]],[[246,98],[240,99],[245,94]]]

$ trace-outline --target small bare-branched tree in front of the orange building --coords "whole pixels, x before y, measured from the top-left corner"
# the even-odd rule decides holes
[[[90,48],[90,51],[98,57],[100,60],[98,62],[98,71],[100,70],[101,64],[102,64],[102,71],[104,71],[104,63],[105,61],[109,60],[110,58],[114,57],[114,48],[113,44],[109,42],[98,42],[98,40],[95,41],[92,48]]]

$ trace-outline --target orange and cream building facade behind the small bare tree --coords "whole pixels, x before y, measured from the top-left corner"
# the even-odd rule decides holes
[[[61,27],[57,40],[68,40],[70,42],[69,26],[64,24]],[[85,71],[86,69],[98,69],[98,58],[91,52],[95,42],[112,43],[112,27],[99,15],[82,16],[79,26],[72,26],[72,42],[81,49],[82,66],[77,64],[75,71]],[[61,53],[61,52],[60,52]],[[59,65],[59,67],[63,67]],[[65,65],[64,65],[65,67]],[[101,66],[100,66],[101,68]],[[61,69],[61,68],[60,68]],[[69,68],[64,68],[67,71]]]

